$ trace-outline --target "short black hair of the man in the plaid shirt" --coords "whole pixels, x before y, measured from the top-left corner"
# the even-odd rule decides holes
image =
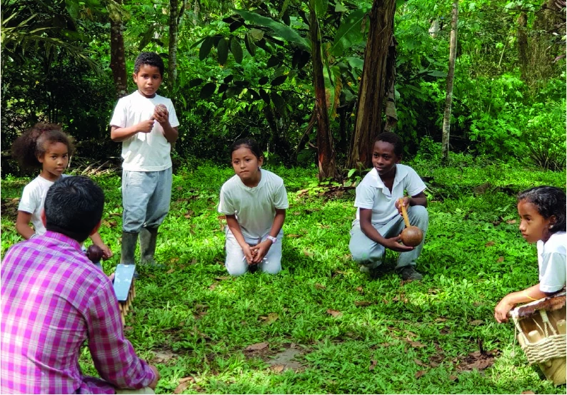
[[[104,209],[101,187],[85,176],[64,177],[51,185],[45,198],[46,229],[84,242]]]

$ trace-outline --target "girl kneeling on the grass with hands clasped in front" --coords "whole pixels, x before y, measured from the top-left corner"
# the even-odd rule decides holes
[[[288,198],[283,180],[261,169],[260,147],[251,138],[231,148],[234,175],[221,188],[219,212],[226,215],[226,270],[239,276],[251,265],[275,275],[281,270],[281,227]]]

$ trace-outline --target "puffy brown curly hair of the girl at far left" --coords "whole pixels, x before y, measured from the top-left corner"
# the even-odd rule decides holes
[[[74,146],[71,138],[55,123],[36,123],[22,133],[12,144],[12,157],[22,168],[41,168],[37,159],[47,152],[49,145],[63,143],[69,149],[69,156]]]

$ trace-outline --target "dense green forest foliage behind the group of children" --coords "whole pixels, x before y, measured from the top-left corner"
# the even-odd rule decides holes
[[[313,1],[321,24],[324,76],[338,163],[356,113],[370,0]],[[460,2],[451,149],[565,165],[564,9],[547,2]],[[441,140],[451,4],[397,1],[394,36],[398,133],[406,153]],[[217,160],[251,135],[281,163],[309,165],[316,148],[308,1],[187,3],[172,95],[181,121],[176,164]],[[79,141],[76,163],[116,158],[108,122],[116,103],[109,69],[109,15],[122,14],[126,66],[141,50],[168,60],[168,4],[154,1],[2,1],[1,143],[38,120]],[[520,23],[526,16],[525,26]],[[563,23],[563,24],[562,24]],[[437,26],[438,30],[434,30]],[[432,30],[433,29],[433,30]],[[522,37],[525,37],[523,44]],[[527,66],[523,66],[527,65]],[[165,76],[162,92],[168,89]],[[130,82],[131,90],[134,85]],[[303,138],[306,130],[306,138]],[[3,175],[16,172],[4,160]],[[117,164],[118,161],[114,160]]]

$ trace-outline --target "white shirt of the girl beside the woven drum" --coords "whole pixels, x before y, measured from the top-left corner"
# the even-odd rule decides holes
[[[539,289],[557,292],[566,282],[566,232],[556,232],[547,242],[538,241]]]

